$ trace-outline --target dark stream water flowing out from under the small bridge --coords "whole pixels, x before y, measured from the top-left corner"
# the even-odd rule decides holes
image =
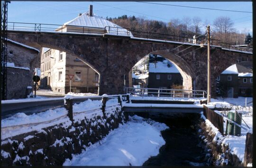
[[[165,145],[159,154],[149,158],[143,166],[209,166],[208,150],[198,135],[197,115],[151,119],[165,123],[170,129],[162,131]]]

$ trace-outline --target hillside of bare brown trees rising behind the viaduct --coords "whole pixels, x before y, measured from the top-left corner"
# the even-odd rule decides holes
[[[200,17],[183,17],[183,19],[173,18],[168,23],[148,20],[143,17],[123,15],[121,17],[107,19],[124,28],[129,28],[135,34],[140,32],[150,32],[157,34],[171,34],[192,38],[194,35],[204,37],[207,21],[203,22]],[[220,42],[234,45],[247,44],[245,42],[247,32],[239,32],[234,28],[234,23],[229,17],[217,17],[211,25],[211,37]],[[198,38],[200,39],[200,38]],[[249,43],[252,45],[252,41]]]

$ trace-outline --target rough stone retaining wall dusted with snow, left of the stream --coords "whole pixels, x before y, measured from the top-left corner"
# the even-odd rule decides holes
[[[109,132],[128,120],[120,106],[106,108],[106,117],[95,115],[64,122],[2,140],[1,164],[49,166],[62,165],[88,146],[100,141]]]

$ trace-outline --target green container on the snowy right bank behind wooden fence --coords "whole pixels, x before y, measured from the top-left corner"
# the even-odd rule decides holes
[[[236,122],[238,125],[242,124],[242,113],[238,113],[237,111],[229,111],[228,118]],[[226,134],[240,136],[241,127],[227,121]]]

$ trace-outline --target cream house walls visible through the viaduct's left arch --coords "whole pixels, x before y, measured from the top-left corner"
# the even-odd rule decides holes
[[[98,93],[99,74],[86,63],[73,55],[59,50],[49,49],[41,55],[40,88],[49,88],[53,92]]]

